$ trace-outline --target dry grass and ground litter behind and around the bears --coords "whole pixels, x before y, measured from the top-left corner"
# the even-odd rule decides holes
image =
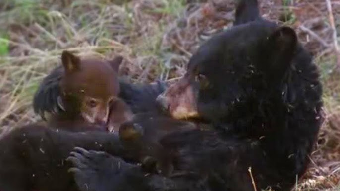
[[[260,0],[263,16],[281,18],[314,54],[324,84],[326,121],[298,191],[340,190],[339,0]],[[327,2],[332,7],[330,17]],[[230,27],[233,0],[2,0],[0,2],[0,127],[39,120],[31,102],[63,49],[125,57],[132,81],[173,81],[191,53]],[[338,32],[335,38],[332,28]]]

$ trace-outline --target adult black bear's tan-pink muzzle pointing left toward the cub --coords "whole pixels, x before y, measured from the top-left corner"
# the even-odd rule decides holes
[[[163,94],[157,97],[161,108],[175,119],[199,118],[197,110],[198,89],[187,76],[171,85]]]

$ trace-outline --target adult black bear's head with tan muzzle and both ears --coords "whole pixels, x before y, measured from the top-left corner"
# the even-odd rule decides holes
[[[172,117],[263,126],[285,121],[296,104],[320,102],[316,67],[294,30],[259,17],[256,0],[242,2],[235,26],[201,46],[183,78],[158,97]]]

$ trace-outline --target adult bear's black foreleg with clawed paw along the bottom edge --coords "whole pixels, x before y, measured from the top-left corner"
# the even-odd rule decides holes
[[[80,191],[211,191],[197,174],[166,178],[145,173],[140,165],[102,151],[76,147],[67,160],[76,165],[70,172]]]

